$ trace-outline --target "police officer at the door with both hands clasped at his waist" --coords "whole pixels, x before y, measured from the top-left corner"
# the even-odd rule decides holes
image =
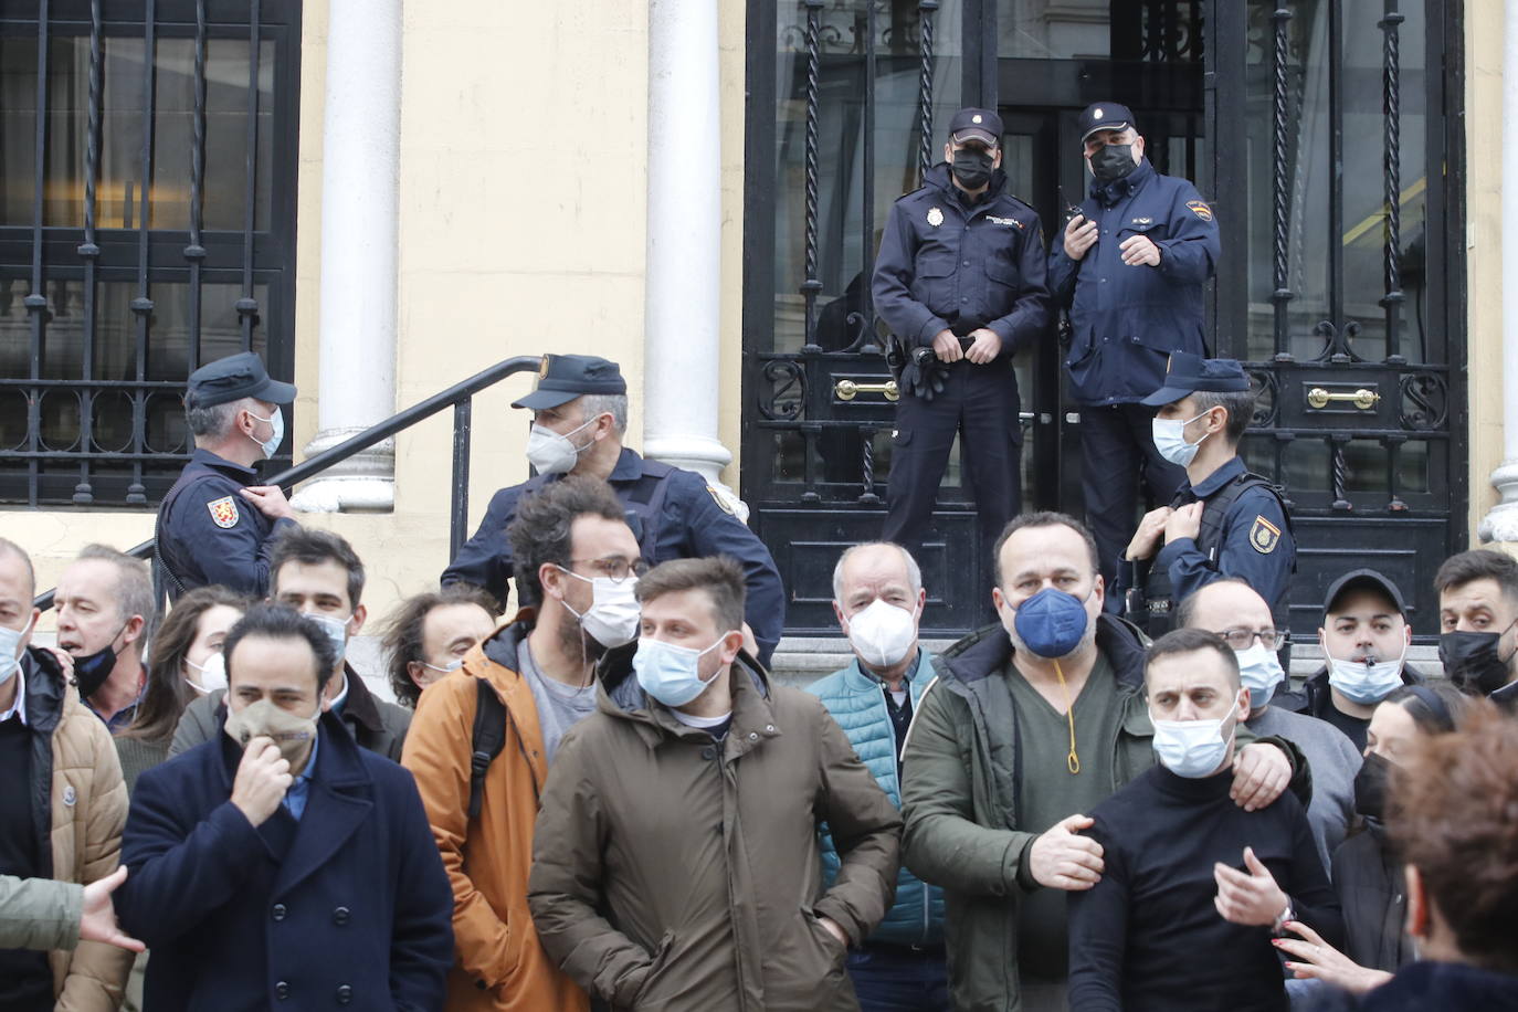
[[[1038,214],[1003,193],[1002,120],[961,109],[944,161],[891,206],[874,261],[874,306],[906,352],[882,537],[923,543],[955,434],[984,542],[1022,508],[1013,355],[1049,322]]]

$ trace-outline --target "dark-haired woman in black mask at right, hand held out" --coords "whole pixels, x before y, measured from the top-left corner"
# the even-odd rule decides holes
[[[1333,886],[1343,907],[1345,948],[1324,944],[1312,929],[1296,930],[1305,942],[1280,939],[1299,979],[1319,979],[1353,994],[1387,982],[1398,966],[1416,959],[1407,938],[1407,888],[1403,857],[1386,836],[1387,781],[1422,742],[1459,727],[1466,704],[1454,686],[1438,683],[1394,689],[1371,715],[1365,763],[1354,778],[1354,810],[1360,816],[1333,854]]]

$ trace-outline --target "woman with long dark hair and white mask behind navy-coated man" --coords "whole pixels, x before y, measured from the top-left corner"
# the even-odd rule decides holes
[[[185,707],[226,687],[222,640],[243,618],[249,599],[219,584],[179,598],[158,627],[147,655],[147,687],[132,725],[115,739],[128,792],[137,777],[168,759],[168,743]]]

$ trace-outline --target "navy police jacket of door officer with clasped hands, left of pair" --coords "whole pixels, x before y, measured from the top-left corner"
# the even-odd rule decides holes
[[[1038,214],[991,182],[975,205],[949,179],[949,164],[927,170],[923,187],[894,205],[880,237],[874,308],[909,347],[940,331],[988,328],[1002,357],[1038,338],[1049,322],[1049,291]]]

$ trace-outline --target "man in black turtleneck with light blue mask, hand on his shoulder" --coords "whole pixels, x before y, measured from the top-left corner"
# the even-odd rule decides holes
[[[1222,639],[1160,637],[1145,696],[1160,763],[1091,812],[1107,869],[1070,895],[1070,1007],[1284,1009],[1271,933],[1343,933],[1307,815],[1289,794],[1255,812],[1228,797],[1249,692]]]

